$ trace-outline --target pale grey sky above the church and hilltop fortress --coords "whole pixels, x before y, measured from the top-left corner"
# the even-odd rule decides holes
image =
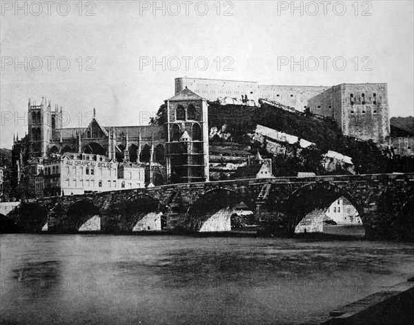
[[[184,76],[388,83],[390,116],[413,116],[414,2],[328,2],[1,0],[0,147],[27,132],[28,98],[62,106],[65,127],[94,108],[146,125]]]

